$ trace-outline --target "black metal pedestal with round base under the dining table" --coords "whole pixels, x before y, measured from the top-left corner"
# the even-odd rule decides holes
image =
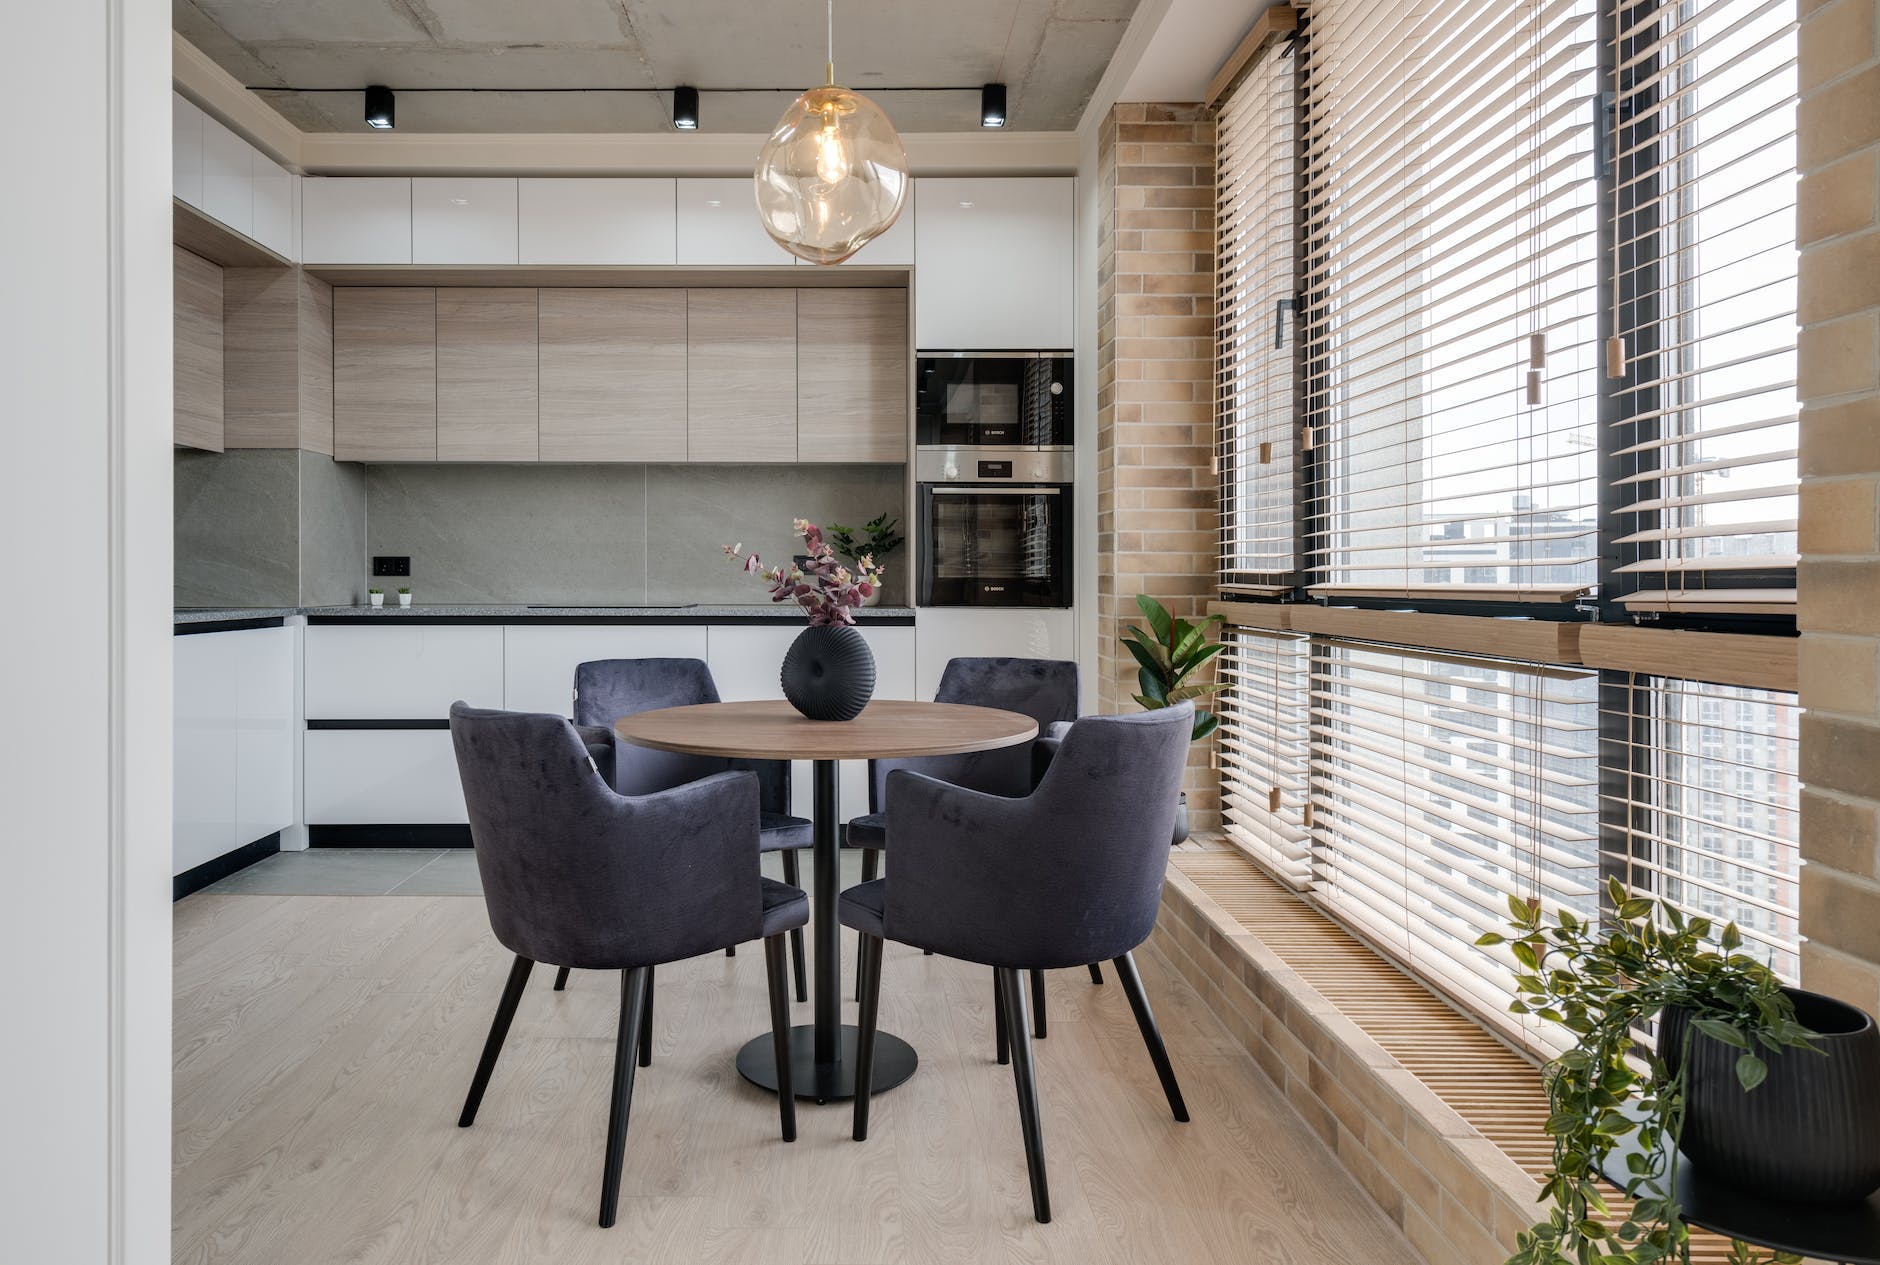
[[[790,1030],[790,1075],[797,1098],[820,1103],[855,1096],[854,1024],[842,1023],[842,851],[837,846],[840,806],[837,804],[837,761],[818,759],[814,835],[816,861],[810,944],[814,945],[812,992],[816,1023]],[[914,1047],[889,1032],[874,1036],[874,1092],[893,1088],[914,1075],[919,1056]],[[769,1034],[752,1038],[737,1053],[737,1071],[752,1085],[776,1090],[776,1054]]]

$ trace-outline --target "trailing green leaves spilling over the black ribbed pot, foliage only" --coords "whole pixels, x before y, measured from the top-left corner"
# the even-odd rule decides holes
[[[1775,972],[1739,953],[1735,923],[1718,932],[1707,917],[1630,895],[1617,878],[1607,897],[1611,914],[1598,923],[1570,910],[1547,917],[1538,902],[1510,897],[1512,934],[1478,940],[1506,944],[1513,955],[1510,1009],[1559,1023],[1575,1038],[1545,1071],[1553,1167],[1542,1201],[1553,1207],[1517,1237],[1510,1265],[1688,1261],[1690,1229],[1675,1190],[1692,1043],[1735,1051],[1743,1092],[1754,1092],[1784,1051],[1814,1049],[1816,1034],[1797,1023]],[[1673,1034],[1666,1049],[1637,1041],[1653,1021]],[[1600,1192],[1600,1171],[1628,1143],[1636,1154],[1626,1158],[1624,1190],[1634,1203],[1617,1216]],[[1799,1259],[1743,1242],[1731,1254],[1739,1265]]]

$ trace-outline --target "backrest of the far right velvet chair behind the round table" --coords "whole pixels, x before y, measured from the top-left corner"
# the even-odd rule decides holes
[[[940,673],[934,703],[970,703],[1019,712],[1038,722],[1038,731],[1058,720],[1077,718],[1077,665],[1068,660],[955,658]],[[869,808],[887,804],[887,774],[912,769],[931,778],[966,786],[987,795],[1025,795],[1032,789],[1030,742],[964,756],[869,761]]]

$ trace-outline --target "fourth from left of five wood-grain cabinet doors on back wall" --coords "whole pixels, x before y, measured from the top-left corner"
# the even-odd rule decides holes
[[[686,461],[797,461],[791,289],[686,295]]]

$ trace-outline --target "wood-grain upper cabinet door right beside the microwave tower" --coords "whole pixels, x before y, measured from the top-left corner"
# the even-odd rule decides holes
[[[797,461],[908,459],[908,293],[797,291]]]

